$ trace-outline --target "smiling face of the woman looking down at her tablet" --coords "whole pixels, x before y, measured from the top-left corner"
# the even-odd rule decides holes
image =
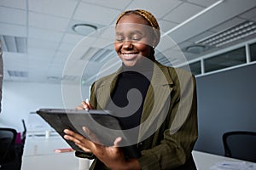
[[[137,14],[125,14],[115,28],[114,48],[126,66],[142,62],[144,57],[154,58],[152,27]]]

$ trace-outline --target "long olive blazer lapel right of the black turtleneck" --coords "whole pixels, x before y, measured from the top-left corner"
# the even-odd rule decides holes
[[[149,137],[164,121],[171,102],[172,78],[168,69],[155,62],[151,84],[143,105],[138,141]],[[167,109],[167,111],[166,111]],[[162,112],[162,113],[161,113]]]

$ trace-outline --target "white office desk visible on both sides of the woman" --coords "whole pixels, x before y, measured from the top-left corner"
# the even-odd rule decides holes
[[[69,147],[66,141],[61,139],[59,135],[52,135],[48,139],[44,136],[30,137],[28,135],[22,156],[21,170],[80,170],[82,169],[81,164],[85,164],[83,170],[88,169],[91,161],[74,156],[73,151],[65,153],[55,153],[54,151],[55,149]],[[222,161],[244,162],[196,150],[192,151],[192,155],[198,170],[210,170],[212,166]],[[253,165],[255,166],[250,168],[250,170],[256,169],[256,164],[254,163]]]

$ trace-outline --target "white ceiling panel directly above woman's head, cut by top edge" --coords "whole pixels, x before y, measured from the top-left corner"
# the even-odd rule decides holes
[[[156,18],[163,17],[166,13],[176,8],[181,1],[178,0],[147,0],[147,1],[133,1],[127,9],[142,8],[150,11]]]

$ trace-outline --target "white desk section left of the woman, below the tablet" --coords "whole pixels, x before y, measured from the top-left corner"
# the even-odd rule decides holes
[[[74,156],[74,151],[64,153],[55,153],[54,151],[63,148],[70,148],[70,146],[57,134],[51,135],[49,138],[44,136],[30,137],[28,134],[22,156],[21,170],[79,170],[81,164],[87,164],[84,170],[88,169],[89,160]]]

